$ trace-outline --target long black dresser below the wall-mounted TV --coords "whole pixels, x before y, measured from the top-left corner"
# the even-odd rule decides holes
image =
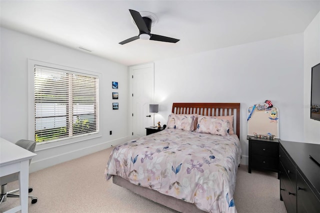
[[[280,142],[280,199],[288,213],[320,212],[320,144]],[[317,156],[319,156],[317,155]]]

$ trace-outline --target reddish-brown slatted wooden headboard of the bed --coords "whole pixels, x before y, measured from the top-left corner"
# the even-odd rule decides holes
[[[233,131],[240,138],[240,103],[172,103],[172,113],[233,116]]]

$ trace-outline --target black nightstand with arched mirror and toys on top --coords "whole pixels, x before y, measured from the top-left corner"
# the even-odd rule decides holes
[[[249,165],[251,168],[273,171],[279,178],[279,139],[263,139],[254,136],[246,136],[249,140]]]

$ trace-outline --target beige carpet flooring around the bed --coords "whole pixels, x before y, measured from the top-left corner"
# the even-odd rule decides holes
[[[176,212],[127,189],[104,180],[103,173],[112,148],[107,148],[74,160],[63,162],[29,175],[30,193],[38,197],[29,200],[29,212]],[[18,182],[8,184],[8,190]],[[238,213],[286,212],[279,199],[279,180],[274,172],[252,170],[240,165],[237,171],[234,202]],[[0,212],[19,205],[18,198],[7,198]]]

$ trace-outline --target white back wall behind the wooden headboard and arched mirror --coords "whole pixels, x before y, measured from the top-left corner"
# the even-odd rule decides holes
[[[246,163],[247,107],[269,99],[279,108],[279,137],[303,141],[303,33],[159,60],[154,67],[156,121],[166,122],[172,102],[240,102]]]

